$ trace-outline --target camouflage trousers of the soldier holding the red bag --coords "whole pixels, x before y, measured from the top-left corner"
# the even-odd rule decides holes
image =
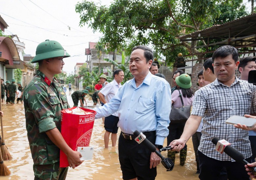
[[[33,170],[34,180],[65,180],[68,173],[68,167],[60,168],[59,162],[45,165],[34,164]]]

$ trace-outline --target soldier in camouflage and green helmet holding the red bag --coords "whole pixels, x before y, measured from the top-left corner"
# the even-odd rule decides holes
[[[67,155],[69,167],[80,165],[81,154],[63,139],[61,110],[69,108],[59,82],[53,78],[62,72],[63,58],[70,57],[56,41],[46,40],[36,48],[32,63],[38,62],[37,74],[24,88],[26,129],[33,158],[34,179],[66,179],[68,167],[59,167],[60,149]]]

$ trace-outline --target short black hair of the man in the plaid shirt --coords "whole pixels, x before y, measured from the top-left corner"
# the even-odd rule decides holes
[[[232,59],[235,61],[235,63],[238,61],[238,51],[235,47],[231,45],[223,45],[216,49],[212,55],[212,61],[216,58],[225,58],[229,55],[232,55]]]

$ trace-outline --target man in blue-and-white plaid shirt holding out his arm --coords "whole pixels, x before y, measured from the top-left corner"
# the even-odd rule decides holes
[[[248,131],[225,123],[232,115],[256,115],[256,86],[235,76],[238,68],[237,49],[224,45],[212,55],[216,80],[195,93],[193,109],[180,139],[170,143],[172,151],[180,151],[196,132],[203,117],[203,129],[198,148],[200,179],[218,179],[223,167],[228,179],[249,179],[243,163],[235,162],[226,153],[218,153],[211,142],[213,137],[225,139],[251,163]]]

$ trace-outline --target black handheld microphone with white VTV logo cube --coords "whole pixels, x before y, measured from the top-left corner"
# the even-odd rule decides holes
[[[136,136],[140,136],[140,135],[145,136],[143,133],[139,133],[139,131],[137,130],[134,131],[133,134]],[[144,138],[140,143],[143,143],[152,153],[156,153],[161,158],[161,163],[167,169],[167,171],[173,170],[174,164],[172,160],[168,157],[167,158],[163,157],[162,154],[157,150],[156,146],[152,144],[148,139]]]

